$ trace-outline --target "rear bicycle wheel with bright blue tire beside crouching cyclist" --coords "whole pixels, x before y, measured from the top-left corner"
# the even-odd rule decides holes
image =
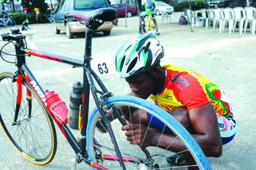
[[[172,129],[172,131],[177,135],[179,139],[182,140],[182,142],[187,146],[188,150],[190,151],[191,155],[195,159],[195,161],[198,164],[198,167],[200,169],[212,169],[210,167],[210,164],[205,157],[202,149],[200,146],[195,142],[191,134],[180,124],[178,123],[173,116],[170,114],[167,114],[164,110],[157,107],[156,105],[153,105],[152,103],[149,103],[146,100],[137,98],[137,97],[131,97],[131,96],[115,96],[110,97],[106,100],[106,104],[113,104],[113,106],[129,106],[129,107],[135,107],[140,108],[142,110],[145,110],[146,112],[152,114],[153,116],[156,116],[161,122],[165,123],[166,126]],[[112,107],[113,107],[112,106]],[[115,156],[115,151],[113,151],[113,145],[112,141],[108,135],[108,133],[100,133],[98,130],[96,130],[96,122],[98,121],[100,114],[98,112],[98,109],[95,108],[93,112],[91,113],[89,119],[88,119],[88,125],[87,125],[87,131],[86,131],[86,144],[87,144],[87,151],[88,151],[88,157],[93,162],[99,162],[99,164],[103,167],[109,168],[109,169],[121,169],[119,167],[118,161],[109,161],[109,160],[102,160],[99,157],[95,156],[95,149],[101,149],[102,155],[101,157],[104,157],[104,155],[111,155]],[[121,151],[122,157],[131,157],[131,159],[139,159],[145,160],[146,156],[140,149],[138,145],[130,145],[130,143],[126,140],[126,136],[124,135],[124,132],[121,130],[121,123],[119,121],[115,120],[111,122],[111,127],[113,129],[113,132],[115,134],[115,138],[118,144],[118,147]],[[117,134],[118,133],[118,134]],[[102,140],[103,138],[107,138]],[[173,141],[171,141],[173,142]],[[111,150],[112,148],[112,150]],[[151,156],[161,153],[161,155],[170,156],[174,154],[171,151],[157,148],[157,147],[147,147],[146,148],[149,151],[149,154]],[[113,157],[112,157],[113,158]],[[157,169],[168,169],[173,165],[170,165],[165,161],[166,159],[161,156],[155,156],[153,157],[155,161],[155,165],[159,165],[160,168]],[[135,161],[135,163],[131,162],[124,162],[126,169],[141,169],[146,163],[144,162],[144,165],[142,162]],[[154,165],[154,166],[155,166]],[[135,167],[134,167],[135,166]],[[152,165],[153,166],[153,165]],[[157,167],[157,166],[156,166]],[[180,166],[175,167],[178,168]],[[184,168],[184,166],[181,166],[181,168]],[[146,168],[145,168],[146,169]],[[147,169],[154,169],[148,168]]]

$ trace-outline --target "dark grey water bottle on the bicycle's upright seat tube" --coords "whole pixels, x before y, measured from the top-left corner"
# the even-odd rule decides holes
[[[73,84],[73,92],[70,93],[69,121],[71,129],[78,130],[80,105],[82,105],[83,84],[78,81]]]

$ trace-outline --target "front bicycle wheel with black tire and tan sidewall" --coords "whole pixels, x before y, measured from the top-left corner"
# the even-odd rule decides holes
[[[27,80],[23,79],[21,108],[17,120],[20,124],[11,125],[17,98],[17,83],[12,82],[12,77],[8,72],[0,74],[0,125],[8,140],[24,158],[35,164],[47,164],[53,160],[57,149],[52,118]],[[26,89],[32,93],[31,117],[28,117]]]

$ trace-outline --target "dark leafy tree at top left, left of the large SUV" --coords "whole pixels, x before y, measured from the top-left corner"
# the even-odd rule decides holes
[[[34,7],[38,8],[40,13],[46,13],[49,7],[44,0],[21,0],[21,5],[27,7],[27,13],[34,12]]]

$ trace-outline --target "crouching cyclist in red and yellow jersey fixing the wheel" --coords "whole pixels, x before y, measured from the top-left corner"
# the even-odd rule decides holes
[[[234,138],[237,129],[237,120],[229,99],[214,82],[201,74],[171,64],[160,66],[163,56],[163,47],[156,39],[155,33],[147,32],[119,47],[114,59],[116,74],[128,82],[131,88],[128,95],[153,99],[157,106],[167,111],[167,114],[173,115],[191,133],[206,156],[220,157],[222,145]],[[127,140],[131,144],[141,145],[140,134],[146,134],[143,147],[158,145],[176,153],[187,149],[179,139],[175,139],[172,131],[157,133],[156,129],[163,129],[164,126],[156,117],[152,118],[150,114],[134,109],[130,111],[131,116],[125,115],[128,125],[123,126],[122,130],[126,131]],[[125,114],[124,111],[122,113]],[[140,115],[141,120],[138,118]],[[154,127],[146,132],[145,126],[149,121],[150,125],[154,122]],[[133,129],[133,137],[129,129]],[[160,137],[160,143],[154,143],[159,141]],[[174,139],[172,145],[167,146]],[[186,161],[187,165],[195,164],[187,152],[181,154],[170,156],[171,163],[180,164]],[[193,168],[197,169],[188,167]]]

